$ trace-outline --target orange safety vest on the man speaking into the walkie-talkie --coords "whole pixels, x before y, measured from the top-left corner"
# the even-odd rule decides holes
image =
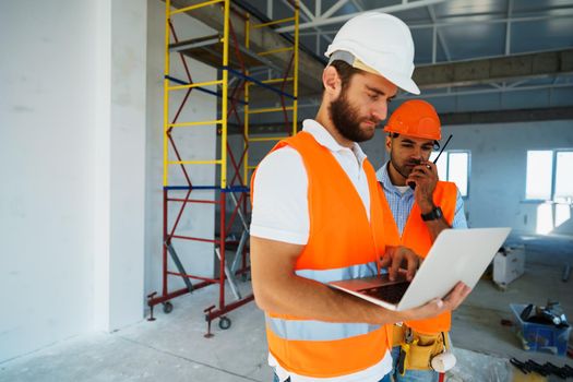
[[[394,215],[390,210],[390,205],[384,194],[383,188],[380,186],[379,192],[382,200],[382,208],[384,212],[384,238],[386,246],[404,246],[408,247],[418,255],[426,258],[428,251],[432,247],[432,239],[426,223],[421,219],[420,207],[416,202],[411,206],[410,214],[402,232],[398,232],[398,226],[394,219]],[[457,188],[455,183],[439,181],[433,191],[433,203],[442,208],[445,220],[450,226],[454,220],[455,203],[457,198]],[[444,312],[438,317],[409,321],[406,324],[413,330],[423,334],[437,334],[440,332],[447,332],[452,325],[451,312]]]

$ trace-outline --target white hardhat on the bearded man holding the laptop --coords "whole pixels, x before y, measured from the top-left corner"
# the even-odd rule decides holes
[[[346,22],[329,45],[329,63],[342,60],[382,75],[396,86],[420,94],[411,81],[414,41],[404,22],[391,14],[366,12]]]

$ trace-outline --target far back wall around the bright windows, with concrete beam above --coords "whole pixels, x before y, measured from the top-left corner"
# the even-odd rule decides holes
[[[535,234],[538,204],[524,202],[527,151],[573,148],[573,121],[446,127],[444,135],[450,133],[452,148],[471,152],[469,225]],[[559,231],[573,235],[570,224]]]

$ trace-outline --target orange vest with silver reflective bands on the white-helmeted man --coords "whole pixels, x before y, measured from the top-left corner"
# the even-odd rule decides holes
[[[310,232],[295,264],[296,274],[321,283],[375,275],[375,262],[385,247],[372,165],[363,162],[371,195],[369,222],[360,195],[329,148],[307,132],[279,142],[273,151],[285,145],[301,155],[309,181]],[[251,194],[253,184],[254,174]],[[391,347],[392,325],[265,313],[270,353],[284,369],[300,375],[353,374],[379,363]]]

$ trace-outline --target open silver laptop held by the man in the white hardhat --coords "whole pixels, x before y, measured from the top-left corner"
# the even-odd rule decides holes
[[[410,283],[398,273],[394,282],[384,274],[329,284],[386,309],[416,308],[445,297],[457,282],[473,288],[510,231],[511,228],[443,230]]]

